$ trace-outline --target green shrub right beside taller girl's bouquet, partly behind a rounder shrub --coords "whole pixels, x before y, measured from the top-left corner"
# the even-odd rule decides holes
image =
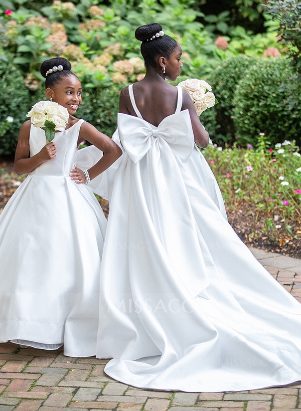
[[[209,83],[212,85],[213,92],[219,101],[219,104],[214,107],[216,113],[214,140],[228,142],[234,139],[233,99],[235,90],[240,79],[255,62],[255,58],[245,55],[228,57],[217,67],[210,77]],[[207,111],[208,110],[206,110],[206,112]],[[204,114],[206,112],[204,112]],[[210,113],[210,116],[212,116],[212,113]]]

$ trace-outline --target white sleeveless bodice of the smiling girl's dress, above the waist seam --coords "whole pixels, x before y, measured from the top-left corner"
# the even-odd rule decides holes
[[[77,140],[83,122],[84,120],[78,120],[70,128],[55,133],[53,141],[56,142],[56,156],[39,165],[31,174],[69,176],[75,164]],[[32,125],[29,138],[31,157],[41,151],[46,143],[45,131]]]

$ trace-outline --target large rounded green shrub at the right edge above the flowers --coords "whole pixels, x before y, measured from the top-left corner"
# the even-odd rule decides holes
[[[299,144],[301,112],[299,99],[291,100],[292,88],[297,88],[297,82],[286,59],[259,60],[249,68],[234,97],[239,144],[256,144],[259,133],[273,144],[292,139]]]

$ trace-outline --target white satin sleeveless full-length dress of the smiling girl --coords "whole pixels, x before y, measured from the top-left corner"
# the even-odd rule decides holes
[[[0,342],[95,355],[107,222],[91,189],[69,176],[83,121],[56,133],[56,157],[27,176],[0,216]],[[45,132],[31,126],[29,141],[33,156]]]

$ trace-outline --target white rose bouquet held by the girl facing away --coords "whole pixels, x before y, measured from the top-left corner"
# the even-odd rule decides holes
[[[205,80],[188,79],[181,81],[178,85],[190,95],[198,116],[207,108],[218,103],[215,95],[211,92],[212,87]]]

